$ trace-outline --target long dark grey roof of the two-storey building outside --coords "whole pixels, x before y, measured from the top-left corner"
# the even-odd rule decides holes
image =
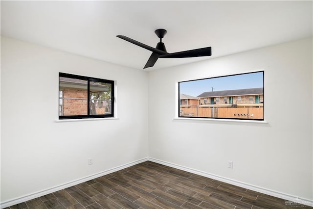
[[[240,95],[256,95],[263,94],[263,88],[246,88],[224,91],[207,91],[200,94],[198,97],[221,97],[221,96],[240,96]]]

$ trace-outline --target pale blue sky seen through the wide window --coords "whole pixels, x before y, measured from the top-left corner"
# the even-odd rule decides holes
[[[263,87],[263,72],[179,82],[179,93],[197,97],[206,91]]]

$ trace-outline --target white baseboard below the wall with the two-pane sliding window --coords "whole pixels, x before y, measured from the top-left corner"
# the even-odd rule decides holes
[[[29,200],[32,200],[32,199],[35,199],[35,198],[38,198],[38,197],[50,194],[52,192],[56,192],[56,191],[65,189],[67,187],[74,186],[74,185],[79,184],[79,183],[87,182],[87,181],[90,181],[92,179],[95,179],[95,178],[98,178],[98,177],[101,177],[101,176],[113,173],[115,171],[122,170],[124,168],[128,168],[130,166],[136,165],[136,164],[141,163],[141,162],[145,162],[147,160],[148,160],[148,157],[144,157],[142,159],[138,159],[138,160],[135,160],[133,162],[129,162],[129,163],[126,163],[124,165],[120,165],[120,166],[117,166],[117,167],[114,167],[114,168],[102,171],[100,173],[96,173],[96,174],[93,174],[93,175],[90,175],[90,176],[87,176],[87,177],[84,177],[84,178],[81,178],[81,179],[77,179],[77,180],[74,180],[74,181],[71,181],[71,182],[68,182],[68,183],[64,183],[64,184],[61,184],[61,185],[58,185],[58,186],[54,186],[54,187],[49,188],[49,189],[45,189],[45,190],[42,190],[42,191],[34,192],[32,194],[29,194],[29,195],[25,195],[25,196],[18,197],[18,198],[12,199],[12,200],[8,200],[8,201],[5,201],[5,202],[1,203],[0,204],[0,208],[3,209],[3,208],[7,208],[9,206],[13,206],[13,205],[25,202],[25,201],[29,201]]]

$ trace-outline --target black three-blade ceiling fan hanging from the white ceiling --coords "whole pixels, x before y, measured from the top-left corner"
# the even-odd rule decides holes
[[[139,47],[142,47],[152,52],[150,58],[148,59],[143,69],[154,66],[158,58],[185,58],[185,57],[197,57],[197,56],[211,56],[211,47],[205,47],[205,48],[182,51],[182,52],[168,53],[166,51],[164,43],[162,43],[162,38],[167,33],[167,31],[165,29],[157,29],[155,33],[157,37],[160,38],[160,42],[157,43],[156,48],[140,43],[124,35],[117,35],[116,37],[124,39],[125,41],[131,42]]]

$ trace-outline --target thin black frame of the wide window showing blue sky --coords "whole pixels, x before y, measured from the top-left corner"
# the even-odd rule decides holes
[[[255,71],[255,72],[248,72],[248,73],[239,73],[239,74],[232,74],[232,75],[225,75],[225,76],[217,76],[217,77],[210,77],[210,78],[222,78],[222,77],[230,77],[230,76],[238,76],[238,75],[245,75],[245,74],[253,74],[253,73],[262,73],[263,74],[263,101],[265,100],[265,95],[264,95],[264,70],[260,71]],[[183,82],[189,82],[189,81],[195,81],[195,80],[205,80],[205,79],[210,79],[210,78],[201,78],[201,79],[192,79],[192,80],[183,80],[178,82],[178,99],[180,101],[180,83]],[[260,103],[261,104],[261,103]],[[264,104],[264,102],[263,102]],[[219,117],[190,117],[190,116],[181,116],[180,115],[180,104],[178,103],[178,117],[179,118],[203,118],[203,119],[220,119],[220,120],[244,120],[244,121],[265,121],[265,105],[263,105],[263,118],[262,119],[254,119],[254,118],[219,118]]]

